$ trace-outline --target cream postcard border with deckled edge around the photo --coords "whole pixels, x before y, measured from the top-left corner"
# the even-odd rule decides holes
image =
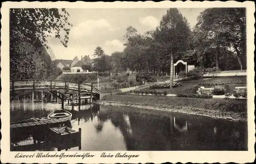
[[[145,163],[145,162],[237,162],[245,163],[252,162],[254,160],[254,143],[255,143],[255,124],[254,124],[254,23],[255,19],[253,13],[255,12],[255,5],[253,2],[114,2],[114,3],[84,3],[84,2],[5,2],[1,8],[1,121],[2,121],[2,140],[1,140],[1,161],[10,163]],[[10,152],[10,103],[9,103],[9,8],[204,8],[204,7],[246,7],[247,17],[247,85],[248,85],[248,151],[106,151],[106,153],[126,153],[126,154],[139,154],[137,158],[127,159],[122,158],[100,158],[100,154],[103,151],[90,151],[90,154],[95,154],[96,157],[92,158],[14,158],[17,153],[23,153],[24,155],[33,155],[38,152]],[[40,152],[39,152],[40,153]],[[50,153],[86,153],[86,152],[42,152],[44,154]]]

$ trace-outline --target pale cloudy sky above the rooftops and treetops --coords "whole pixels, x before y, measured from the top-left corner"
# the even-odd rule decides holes
[[[180,8],[192,29],[197,17],[205,8]],[[67,9],[71,27],[68,47],[65,48],[55,37],[48,38],[55,59],[70,59],[75,56],[89,55],[101,46],[105,54],[124,49],[124,35],[127,27],[132,26],[140,34],[156,29],[166,14],[167,8],[131,8],[131,9]]]

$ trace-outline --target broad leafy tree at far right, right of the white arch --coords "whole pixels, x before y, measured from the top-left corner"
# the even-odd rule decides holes
[[[238,59],[242,69],[243,59],[246,58],[245,29],[245,8],[210,8],[204,10],[199,15],[194,30],[198,43],[204,48],[198,49],[199,54],[204,55],[214,50],[216,66],[219,67],[220,55],[224,60],[228,49],[232,49],[233,55]]]

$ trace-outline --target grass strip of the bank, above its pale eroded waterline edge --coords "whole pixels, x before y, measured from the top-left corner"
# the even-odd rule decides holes
[[[138,95],[105,95],[102,100],[125,102],[140,105],[167,106],[181,108],[182,106],[197,107],[210,110],[233,112],[247,112],[247,100],[243,99],[197,99],[165,96],[138,96]]]

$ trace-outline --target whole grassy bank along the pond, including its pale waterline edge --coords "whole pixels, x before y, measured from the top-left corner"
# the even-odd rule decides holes
[[[177,97],[156,97],[137,95],[106,95],[100,102],[105,105],[132,106],[144,109],[174,111],[212,118],[232,118],[234,121],[247,120],[246,100],[195,99]]]

